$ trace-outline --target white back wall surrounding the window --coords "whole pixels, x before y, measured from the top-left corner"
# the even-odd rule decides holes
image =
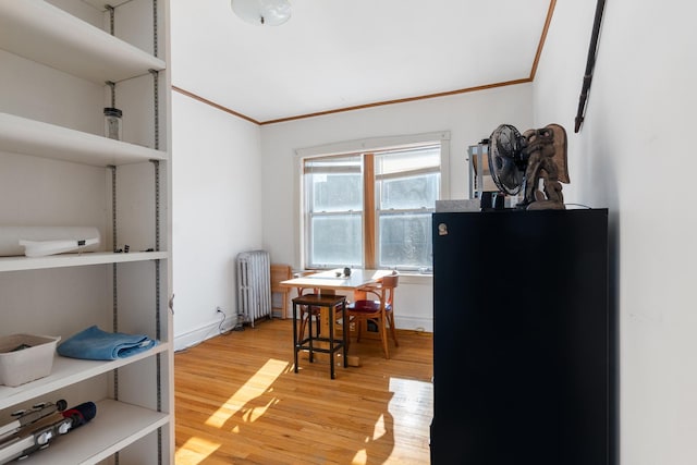
[[[335,113],[261,127],[264,245],[271,258],[298,268],[294,150],[371,137],[450,131],[450,196],[465,198],[466,151],[501,123],[525,130],[533,121],[529,84]],[[432,331],[430,277],[405,277],[395,294],[398,328]]]

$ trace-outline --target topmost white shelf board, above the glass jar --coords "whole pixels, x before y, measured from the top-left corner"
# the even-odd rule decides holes
[[[166,68],[164,61],[42,0],[0,0],[0,48],[97,84]]]

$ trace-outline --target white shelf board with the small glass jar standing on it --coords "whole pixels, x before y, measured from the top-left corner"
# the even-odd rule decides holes
[[[161,150],[9,113],[0,113],[0,150],[97,167],[167,160]]]

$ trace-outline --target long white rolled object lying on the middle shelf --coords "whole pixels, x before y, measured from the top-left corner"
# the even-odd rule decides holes
[[[0,256],[42,257],[66,252],[99,250],[100,234],[91,227],[0,225]]]

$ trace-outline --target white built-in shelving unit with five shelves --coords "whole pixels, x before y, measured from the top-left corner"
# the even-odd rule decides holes
[[[96,227],[100,252],[0,257],[0,336],[145,333],[117,360],[56,355],[0,386],[0,425],[39,402],[95,418],[30,464],[174,463],[169,0],[0,0],[0,227]],[[123,138],[103,135],[105,107]],[[125,245],[130,252],[119,252]]]

